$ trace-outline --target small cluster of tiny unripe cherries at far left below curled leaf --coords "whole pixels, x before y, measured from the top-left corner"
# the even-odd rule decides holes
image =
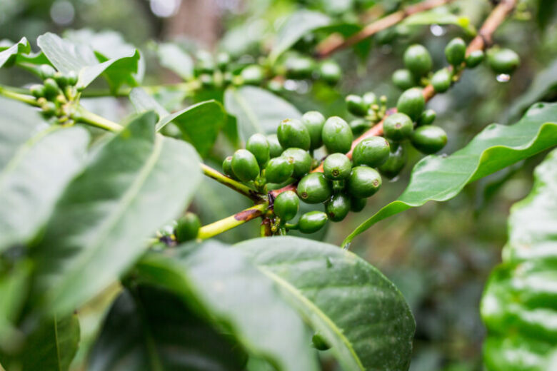
[[[41,65],[39,73],[43,83],[34,84],[29,90],[39,103],[42,115],[56,117],[59,123],[71,124],[68,103],[76,96],[76,73],[71,71],[64,75],[48,64]]]

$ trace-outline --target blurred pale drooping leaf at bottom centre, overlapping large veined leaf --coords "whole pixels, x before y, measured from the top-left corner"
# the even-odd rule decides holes
[[[277,370],[317,370],[310,336],[276,287],[234,248],[207,241],[147,255],[137,266],[141,283],[173,291],[215,318],[246,350]]]

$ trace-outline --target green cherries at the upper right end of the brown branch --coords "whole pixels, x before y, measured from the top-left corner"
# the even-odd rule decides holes
[[[451,87],[463,68],[475,68],[485,59],[481,50],[472,51],[466,56],[466,42],[459,37],[447,44],[445,56],[451,67],[441,68],[433,73],[431,71],[433,61],[428,50],[419,44],[409,46],[403,56],[406,68],[398,69],[393,73],[393,83],[401,90],[431,83],[436,93],[444,93]],[[498,75],[510,75],[520,64],[518,54],[511,49],[498,47],[488,51],[487,61]]]

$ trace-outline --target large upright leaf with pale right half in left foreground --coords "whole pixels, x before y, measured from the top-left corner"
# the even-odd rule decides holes
[[[34,304],[68,312],[97,295],[188,205],[201,181],[188,143],[156,135],[152,112],[94,153],[56,205],[36,259]]]

